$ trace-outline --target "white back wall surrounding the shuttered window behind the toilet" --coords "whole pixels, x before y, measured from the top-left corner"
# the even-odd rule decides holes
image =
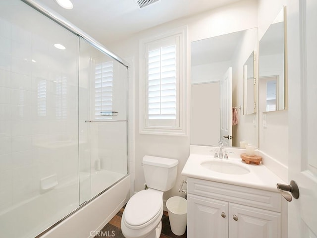
[[[165,31],[187,25],[187,88],[190,87],[190,43],[212,36],[227,34],[230,32],[257,27],[257,1],[242,0],[225,7],[204,12],[190,18],[182,18],[171,21],[142,32],[139,32],[125,41],[109,45],[108,48],[122,58],[134,57],[139,59],[139,40],[158,35]],[[189,156],[190,136],[160,136],[144,135],[139,131],[139,61],[135,61],[135,190],[139,191],[144,186],[142,171],[142,158],[144,155],[154,155],[174,158],[179,160],[178,178],[171,191],[166,192],[164,199],[170,196],[181,195],[178,186],[182,176],[180,175]],[[190,115],[190,94],[188,94],[188,115]],[[189,123],[189,121],[187,122]]]

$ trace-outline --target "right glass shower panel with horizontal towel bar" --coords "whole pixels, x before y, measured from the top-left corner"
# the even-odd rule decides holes
[[[127,174],[127,68],[80,39],[80,203]]]

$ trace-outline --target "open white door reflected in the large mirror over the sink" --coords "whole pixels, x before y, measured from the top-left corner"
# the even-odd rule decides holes
[[[232,146],[232,67],[220,79],[220,140]]]

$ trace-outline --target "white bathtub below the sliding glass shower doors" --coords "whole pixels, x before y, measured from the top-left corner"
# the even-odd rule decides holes
[[[0,237],[94,237],[128,201],[130,177],[101,170],[92,172],[91,180],[89,178],[90,174],[81,173],[81,182],[91,181],[91,197],[95,198],[80,207],[78,177],[77,180],[76,177],[71,177],[60,181],[50,191],[2,211]],[[108,188],[103,192],[106,187]],[[42,207],[45,210],[39,209]],[[49,226],[48,232],[40,234]]]

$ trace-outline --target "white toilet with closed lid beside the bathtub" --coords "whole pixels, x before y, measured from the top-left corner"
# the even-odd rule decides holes
[[[176,182],[178,160],[146,155],[142,164],[148,189],[134,194],[125,206],[121,219],[125,238],[159,238],[163,192]]]

